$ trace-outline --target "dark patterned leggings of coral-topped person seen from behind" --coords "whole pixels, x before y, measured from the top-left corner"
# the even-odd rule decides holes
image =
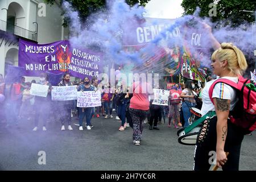
[[[146,110],[129,109],[131,119],[133,120],[133,140],[141,140],[144,127],[144,120],[147,116]]]

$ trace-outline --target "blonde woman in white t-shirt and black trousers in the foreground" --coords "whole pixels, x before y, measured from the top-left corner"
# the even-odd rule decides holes
[[[238,76],[247,68],[242,51],[231,43],[222,43],[212,55],[214,75],[238,82]],[[202,91],[202,115],[216,111],[216,116],[203,122],[197,136],[194,170],[209,170],[210,152],[216,151],[216,163],[223,170],[239,169],[240,149],[243,139],[242,130],[229,121],[229,111],[237,102],[236,90],[224,83],[213,89],[213,103],[210,101],[209,88],[215,80],[207,82]],[[229,152],[228,158],[225,152]]]

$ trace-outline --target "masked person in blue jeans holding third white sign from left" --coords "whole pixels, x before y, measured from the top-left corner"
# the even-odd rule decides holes
[[[84,84],[79,85],[77,88],[77,91],[80,92],[86,92],[86,91],[94,91],[94,88],[92,85],[90,85],[90,80],[88,77],[84,78]],[[86,118],[86,128],[87,130],[90,130],[93,125],[90,123],[90,119],[92,114],[92,107],[79,107],[79,130],[84,130],[82,128],[82,121],[84,120],[84,117]]]

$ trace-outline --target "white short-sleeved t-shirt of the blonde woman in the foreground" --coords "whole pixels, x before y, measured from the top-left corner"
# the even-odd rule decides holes
[[[226,78],[226,79],[231,80],[236,83],[238,82],[237,77],[222,77],[222,78]],[[218,80],[218,79],[216,79],[216,80]],[[202,94],[201,94],[202,101],[203,101],[203,105],[202,105],[202,109],[201,109],[202,115],[207,114],[208,111],[215,111],[215,107],[214,107],[212,101],[210,101],[209,89],[210,89],[210,86],[213,84],[213,82],[216,80],[207,82],[205,84],[204,89],[202,90]],[[214,86],[212,98],[221,98],[221,99],[230,100],[230,110],[234,109],[234,106],[236,105],[236,103],[238,101],[238,98],[236,98],[236,90],[234,90],[231,86],[226,85],[224,83],[217,83]]]

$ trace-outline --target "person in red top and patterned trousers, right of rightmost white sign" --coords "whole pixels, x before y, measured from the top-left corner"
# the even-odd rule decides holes
[[[169,96],[169,123],[168,127],[171,127],[172,118],[174,118],[174,127],[176,129],[182,126],[180,123],[180,98],[181,90],[179,90],[179,84],[175,84],[170,90]]]

